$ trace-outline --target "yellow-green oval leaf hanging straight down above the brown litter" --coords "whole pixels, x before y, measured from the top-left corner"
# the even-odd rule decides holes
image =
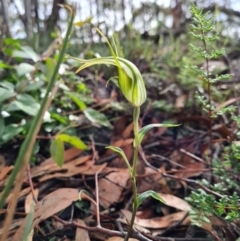
[[[57,138],[51,141],[50,153],[56,164],[62,167],[64,161],[64,145],[61,139]]]

